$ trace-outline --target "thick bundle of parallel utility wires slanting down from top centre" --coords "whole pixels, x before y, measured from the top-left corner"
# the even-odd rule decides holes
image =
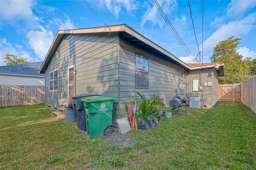
[[[175,28],[173,27],[172,23],[170,22],[170,20],[167,18],[166,14],[164,13],[162,7],[158,4],[157,0],[152,0],[154,5],[156,6],[158,12],[162,15],[164,21],[166,22],[166,24],[168,25],[168,27],[171,29],[171,31],[173,32],[175,38],[179,41],[180,45],[185,49],[185,52],[192,58],[192,60],[194,62],[198,62],[196,60],[196,58],[194,57],[194,55],[191,53],[191,51],[189,50],[189,48],[187,47],[187,45],[184,43],[184,41],[181,39],[181,37],[179,36],[178,32],[175,30]]]

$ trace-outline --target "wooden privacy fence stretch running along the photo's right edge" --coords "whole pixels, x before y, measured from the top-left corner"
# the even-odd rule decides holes
[[[241,83],[241,101],[256,113],[256,77]]]

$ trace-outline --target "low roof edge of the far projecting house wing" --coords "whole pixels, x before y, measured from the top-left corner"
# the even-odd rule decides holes
[[[216,64],[218,64],[219,68],[217,70],[218,76],[224,76],[224,63],[188,63],[190,67],[192,67],[191,70],[198,70],[198,69],[207,69],[207,68],[215,68]]]

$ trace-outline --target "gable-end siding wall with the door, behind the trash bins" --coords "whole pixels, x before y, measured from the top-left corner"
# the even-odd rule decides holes
[[[94,93],[118,98],[118,37],[102,34],[63,37],[45,71],[46,105],[59,107],[68,97],[68,66],[74,65],[75,94]],[[50,91],[49,73],[59,70],[59,91]],[[115,104],[116,111],[117,104]]]

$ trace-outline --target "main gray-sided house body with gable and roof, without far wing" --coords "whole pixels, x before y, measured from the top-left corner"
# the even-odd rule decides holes
[[[186,72],[197,69],[121,24],[59,30],[39,72],[45,73],[47,106],[57,108],[58,99],[75,94],[116,97],[115,120],[127,116],[126,103],[139,99],[136,91],[169,104]]]

